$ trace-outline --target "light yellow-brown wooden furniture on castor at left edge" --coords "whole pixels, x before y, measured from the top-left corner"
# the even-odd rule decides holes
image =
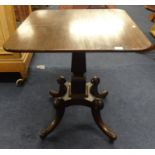
[[[28,75],[32,53],[11,53],[3,49],[4,42],[16,29],[13,6],[0,5],[0,72],[19,72],[22,80]]]

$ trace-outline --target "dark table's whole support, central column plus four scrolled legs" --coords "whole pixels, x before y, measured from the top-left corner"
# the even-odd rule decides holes
[[[117,136],[102,121],[100,110],[104,103],[103,99],[108,95],[108,91],[98,92],[100,79],[94,77],[91,82],[86,82],[86,56],[85,53],[72,54],[73,73],[71,82],[67,82],[63,76],[57,80],[59,91],[50,91],[50,95],[54,98],[54,107],[56,108],[56,117],[46,129],[43,129],[40,137],[44,139],[50,134],[60,123],[65,108],[72,105],[88,106],[92,110],[92,115],[98,127],[109,137],[110,140],[116,140]]]

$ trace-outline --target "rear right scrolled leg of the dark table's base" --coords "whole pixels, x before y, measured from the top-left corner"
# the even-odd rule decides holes
[[[94,95],[95,97],[99,97],[99,98],[105,98],[108,95],[107,90],[104,90],[101,93],[98,92],[98,85],[100,83],[99,77],[94,76],[91,79],[91,83],[92,83],[92,86],[90,88],[90,92],[91,92],[92,95]]]

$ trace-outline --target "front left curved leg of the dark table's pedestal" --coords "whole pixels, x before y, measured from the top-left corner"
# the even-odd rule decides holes
[[[48,134],[50,134],[56,127],[57,125],[60,123],[64,112],[65,112],[65,108],[64,106],[61,105],[61,101],[60,99],[57,99],[54,103],[54,106],[56,108],[56,115],[55,118],[52,122],[49,123],[48,127],[46,129],[43,129],[40,133],[40,138],[44,139],[46,138],[46,136]]]

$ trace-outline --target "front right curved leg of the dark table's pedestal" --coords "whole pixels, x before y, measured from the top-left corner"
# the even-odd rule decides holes
[[[111,129],[109,129],[107,125],[102,121],[100,109],[92,107],[92,114],[98,127],[110,138],[110,140],[116,140],[117,135],[114,132],[112,132]]]

